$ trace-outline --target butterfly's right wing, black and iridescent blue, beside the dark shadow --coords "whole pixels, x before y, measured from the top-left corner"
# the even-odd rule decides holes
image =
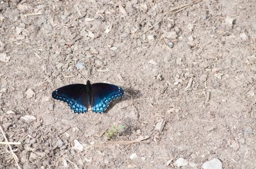
[[[104,112],[110,102],[123,95],[123,90],[118,86],[108,83],[92,84],[92,111]]]

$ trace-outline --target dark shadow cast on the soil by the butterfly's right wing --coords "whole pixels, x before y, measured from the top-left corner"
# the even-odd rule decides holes
[[[125,101],[125,100],[132,100],[136,98],[140,98],[142,96],[141,91],[135,90],[132,88],[122,88],[124,90],[124,95],[121,98],[115,99],[110,103],[110,106],[108,109],[105,110],[105,112],[108,112],[112,107],[114,107],[115,104]]]

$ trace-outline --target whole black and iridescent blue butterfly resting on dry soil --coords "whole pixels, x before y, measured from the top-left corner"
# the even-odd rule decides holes
[[[75,114],[87,112],[101,113],[109,107],[110,102],[123,96],[122,88],[109,83],[73,84],[63,86],[52,92],[52,97],[68,103]]]

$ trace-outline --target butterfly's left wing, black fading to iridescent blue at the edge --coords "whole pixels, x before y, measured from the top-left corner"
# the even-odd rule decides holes
[[[84,113],[88,110],[86,85],[73,84],[63,86],[52,92],[52,97],[68,103],[75,113]]]

